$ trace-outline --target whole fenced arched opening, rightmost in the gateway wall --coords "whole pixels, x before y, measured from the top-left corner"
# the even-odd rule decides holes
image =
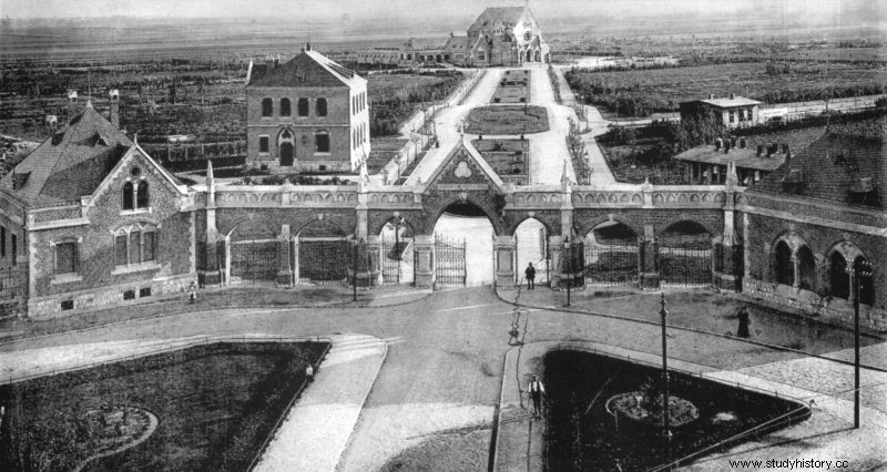
[[[659,236],[659,273],[664,284],[707,286],[712,283],[712,235],[704,226],[681,220]]]

